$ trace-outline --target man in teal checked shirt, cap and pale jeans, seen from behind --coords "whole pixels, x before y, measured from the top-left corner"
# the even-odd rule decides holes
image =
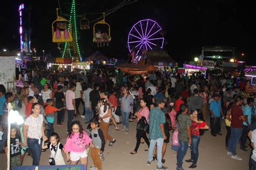
[[[157,98],[156,103],[158,107],[152,109],[150,111],[150,130],[149,130],[149,138],[150,140],[150,148],[149,153],[147,155],[147,165],[150,165],[153,161],[153,150],[157,144],[157,169],[167,169],[167,167],[163,166],[162,160],[162,148],[164,144],[164,139],[167,139],[164,132],[164,124],[165,124],[165,115],[161,109],[164,108],[166,101],[164,98]]]

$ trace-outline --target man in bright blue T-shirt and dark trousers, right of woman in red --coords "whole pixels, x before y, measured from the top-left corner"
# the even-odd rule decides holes
[[[212,136],[216,137],[218,135],[222,135],[220,133],[220,116],[224,116],[223,111],[221,109],[221,102],[219,100],[219,95],[213,94],[213,101],[210,104],[210,111],[211,111],[211,134]]]

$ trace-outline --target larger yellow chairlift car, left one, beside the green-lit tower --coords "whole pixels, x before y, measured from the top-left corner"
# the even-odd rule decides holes
[[[63,17],[58,15],[57,10],[57,19],[52,23],[52,42],[72,42],[72,25],[69,20],[66,20]],[[53,24],[57,23],[56,28],[54,28]]]

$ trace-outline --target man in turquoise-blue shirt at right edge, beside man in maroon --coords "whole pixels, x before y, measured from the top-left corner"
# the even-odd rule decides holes
[[[247,98],[247,104],[244,108],[245,121],[242,123],[242,136],[241,136],[241,146],[240,149],[243,151],[246,150],[246,140],[247,134],[251,126],[251,117],[252,117],[252,107],[254,105],[254,99],[252,97]]]

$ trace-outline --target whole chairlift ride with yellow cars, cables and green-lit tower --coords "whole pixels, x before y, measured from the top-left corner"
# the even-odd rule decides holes
[[[122,6],[131,4],[134,2],[137,2],[137,1],[135,0],[131,2],[130,0],[124,0],[110,10],[107,10],[104,12],[97,12],[97,13],[84,13],[83,15],[79,15],[77,13],[76,6],[77,5],[83,6],[83,4],[76,4],[76,0],[72,0],[70,13],[64,13],[60,8],[60,2],[58,0],[58,5],[59,5],[58,9],[60,10],[60,15],[58,15],[58,9],[57,9],[57,19],[52,23],[52,41],[57,42],[58,44],[57,48],[62,54],[62,58],[70,57],[73,59],[74,62],[78,62],[82,59],[79,45],[78,45],[80,34],[77,30],[77,19],[80,18],[78,22],[79,24],[78,28],[80,30],[89,30],[90,24],[96,22],[93,25],[93,42],[97,42],[95,38],[96,36],[95,31],[98,30],[98,26],[99,27],[101,27],[102,25],[107,26],[105,30],[101,30],[102,33],[104,34],[100,34],[100,38],[102,38],[101,41],[103,42],[110,42],[111,41],[110,24],[105,22],[105,17],[117,11]],[[69,3],[63,3],[63,4],[65,5]],[[66,8],[69,8],[69,7],[66,6]],[[77,9],[80,9],[80,8],[81,6],[77,7]],[[87,15],[101,15],[101,16],[90,21],[88,18],[86,18]],[[64,18],[64,16],[69,17],[69,20]],[[63,44],[65,44],[64,47],[63,47]]]

